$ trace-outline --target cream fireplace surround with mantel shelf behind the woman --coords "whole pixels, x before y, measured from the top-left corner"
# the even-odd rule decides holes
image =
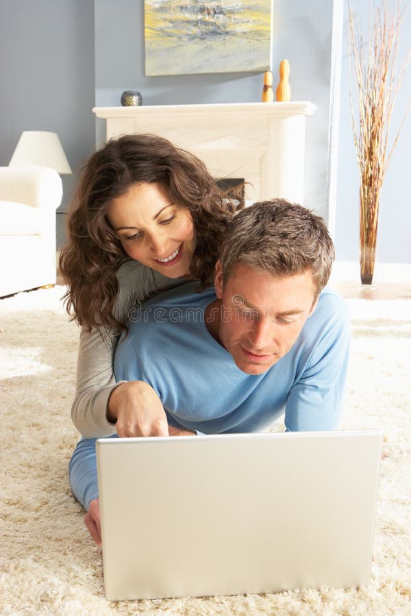
[[[309,102],[95,107],[107,139],[154,133],[184,148],[216,178],[244,178],[248,199],[284,197],[303,203]]]

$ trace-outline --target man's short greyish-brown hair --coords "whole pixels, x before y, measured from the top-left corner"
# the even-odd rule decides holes
[[[327,284],[334,258],[323,218],[285,199],[259,201],[238,212],[220,251],[224,281],[238,262],[278,277],[310,269],[316,296]]]

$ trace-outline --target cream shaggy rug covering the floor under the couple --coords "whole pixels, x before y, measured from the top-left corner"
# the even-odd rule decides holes
[[[109,603],[101,552],[67,480],[77,326],[63,287],[0,300],[1,615],[411,614],[411,301],[350,300],[345,428],[383,428],[369,587]]]

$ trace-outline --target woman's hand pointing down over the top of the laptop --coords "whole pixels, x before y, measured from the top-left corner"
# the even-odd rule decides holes
[[[107,418],[116,423],[119,437],[169,436],[162,402],[144,381],[127,381],[113,389]]]

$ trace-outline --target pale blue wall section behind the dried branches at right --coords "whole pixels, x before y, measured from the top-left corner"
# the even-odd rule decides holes
[[[390,1],[394,8],[396,2]],[[366,37],[369,1],[353,0],[356,15],[360,19],[364,38]],[[401,29],[399,65],[410,49],[411,10]],[[338,146],[338,184],[336,204],[336,249],[340,261],[358,261],[359,186],[360,176],[353,133],[349,101],[348,76],[348,11],[344,12],[343,62],[340,97],[340,131]],[[397,134],[407,103],[411,97],[411,67],[408,67],[403,86],[399,92],[391,134]],[[392,140],[391,140],[392,141]],[[411,263],[411,114],[403,125],[399,142],[382,188],[379,229],[377,235],[377,261],[381,263]]]

